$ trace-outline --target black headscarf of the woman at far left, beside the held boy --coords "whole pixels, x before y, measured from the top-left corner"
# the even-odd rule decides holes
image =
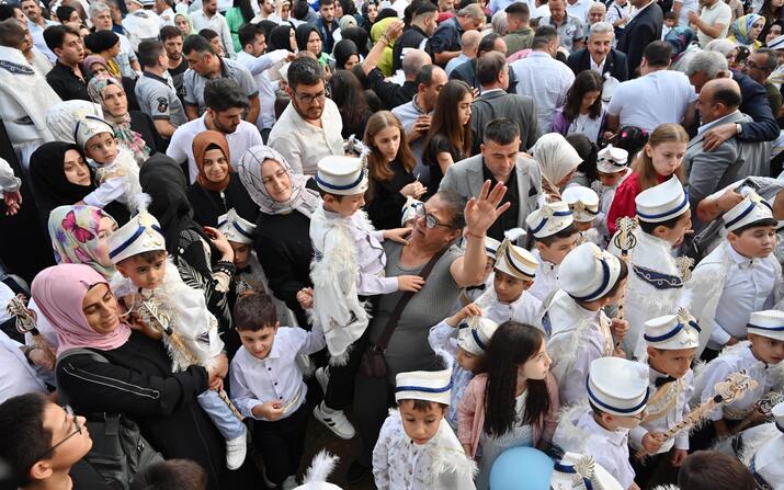
[[[95,190],[93,170],[90,169],[90,185],[68,182],[64,163],[68,150],[77,150],[84,162],[87,158],[72,143],[53,141],[41,145],[30,157],[30,178],[33,181],[35,205],[44,224],[57,206],[76,204]]]

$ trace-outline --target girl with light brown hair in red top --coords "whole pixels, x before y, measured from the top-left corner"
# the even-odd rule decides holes
[[[661,124],[654,129],[643,151],[632,163],[632,173],[615,191],[607,214],[607,229],[611,235],[615,232],[617,218],[636,215],[634,200],[637,194],[664,182],[673,174],[683,182],[681,163],[688,143],[689,135],[680,124]]]

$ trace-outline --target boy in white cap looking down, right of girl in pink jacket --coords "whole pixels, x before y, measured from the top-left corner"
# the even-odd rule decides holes
[[[588,404],[569,409],[553,436],[564,452],[590,454],[617,479],[622,488],[639,490],[628,461],[628,434],[645,417],[648,366],[618,357],[591,363]]]

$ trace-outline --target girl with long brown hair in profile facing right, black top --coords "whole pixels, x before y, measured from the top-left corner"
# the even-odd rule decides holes
[[[450,80],[435,102],[430,133],[424,140],[422,162],[430,166],[430,185],[439,189],[450,166],[470,157],[471,88],[462,80]]]

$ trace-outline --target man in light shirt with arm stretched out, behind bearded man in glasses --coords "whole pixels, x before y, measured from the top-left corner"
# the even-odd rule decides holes
[[[239,30],[239,43],[242,50],[237,54],[237,61],[243,65],[253,76],[259,86],[259,105],[261,111],[255,119],[255,126],[261,137],[266,139],[275,124],[275,90],[270,79],[269,69],[280,66],[285,59],[294,59],[294,55],[285,49],[264,54],[266,36],[260,24],[246,24]]]

